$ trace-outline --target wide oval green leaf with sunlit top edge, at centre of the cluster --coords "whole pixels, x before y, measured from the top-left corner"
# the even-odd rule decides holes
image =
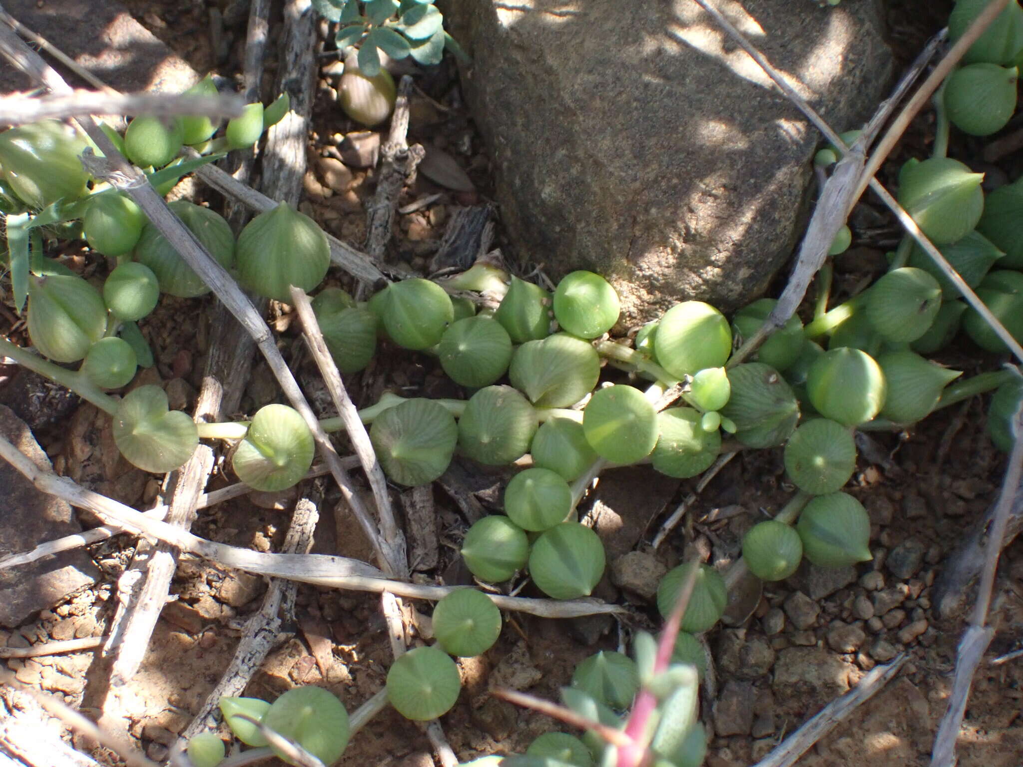
[[[590,344],[565,333],[528,341],[511,356],[508,379],[537,407],[569,407],[593,391],[601,356]]]

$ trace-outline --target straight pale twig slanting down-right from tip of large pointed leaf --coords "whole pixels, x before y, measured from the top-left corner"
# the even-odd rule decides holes
[[[376,459],[376,453],[369,442],[369,435],[366,427],[359,418],[359,411],[355,408],[355,403],[348,396],[345,384],[341,379],[338,366],[330,356],[323,341],[323,333],[320,331],[316,315],[313,313],[312,304],[305,290],[301,287],[292,286],[292,303],[298,310],[299,318],[302,320],[302,327],[305,333],[306,344],[316,361],[333,406],[345,424],[345,431],[352,442],[355,454],[362,462],[362,468],[369,479],[369,487],[373,491],[373,498],[376,501],[376,510],[380,518],[380,536],[387,544],[388,565],[392,575],[399,578],[408,576],[408,561],[405,554],[405,536],[395,522],[394,510],[391,508],[391,495],[388,493],[387,480],[384,478],[384,469]]]

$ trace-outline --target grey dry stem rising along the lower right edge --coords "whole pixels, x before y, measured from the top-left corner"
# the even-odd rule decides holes
[[[941,718],[938,733],[934,738],[931,767],[951,767],[955,764],[955,738],[959,736],[963,716],[966,714],[973,676],[984,657],[987,645],[994,637],[994,629],[987,625],[987,613],[991,605],[994,574],[998,568],[998,554],[1002,552],[1002,542],[1005,539],[1010,510],[1016,500],[1016,494],[1019,492],[1020,479],[1023,478],[1023,404],[1017,408],[1013,415],[1012,432],[1015,442],[1009,456],[1009,466],[1006,468],[1006,476],[1002,482],[1002,492],[998,495],[994,521],[984,546],[984,570],[977,587],[977,602],[970,618],[970,626],[963,635],[963,639],[960,640],[952,693],[948,698],[948,708]]]

